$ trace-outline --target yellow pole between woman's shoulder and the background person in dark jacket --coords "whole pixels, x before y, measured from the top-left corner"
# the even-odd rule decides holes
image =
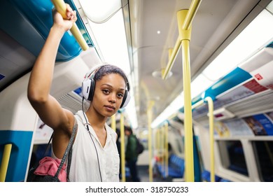
[[[120,161],[121,161],[121,181],[125,182],[125,133],[124,133],[124,114],[120,113]]]

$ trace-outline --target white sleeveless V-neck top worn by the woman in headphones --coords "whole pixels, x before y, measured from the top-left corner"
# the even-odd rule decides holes
[[[83,111],[75,115],[78,122],[78,132],[73,144],[69,179],[71,182],[118,182],[120,170],[120,155],[116,146],[117,134],[105,124],[107,137],[104,147],[99,142],[97,134],[89,125],[90,138],[85,125]],[[87,118],[87,117],[86,117]],[[88,122],[88,119],[87,119]],[[94,145],[97,148],[94,148]],[[97,159],[97,155],[99,160]]]

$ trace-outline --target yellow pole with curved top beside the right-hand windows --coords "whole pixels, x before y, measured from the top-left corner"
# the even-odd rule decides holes
[[[215,171],[214,171],[214,102],[211,97],[206,97],[205,100],[209,105],[209,144],[211,154],[211,182],[215,182]]]

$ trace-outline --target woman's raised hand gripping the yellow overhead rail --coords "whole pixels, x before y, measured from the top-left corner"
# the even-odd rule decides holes
[[[76,22],[77,17],[76,17],[76,11],[72,10],[72,8],[69,6],[69,4],[66,3],[66,18],[63,19],[62,15],[57,12],[57,10],[54,8],[52,10],[53,13],[53,26],[59,27],[63,29],[64,31],[68,31],[71,29],[72,25],[74,22]]]

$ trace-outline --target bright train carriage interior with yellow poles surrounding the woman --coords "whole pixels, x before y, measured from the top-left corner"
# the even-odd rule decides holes
[[[26,181],[52,134],[27,99],[52,1],[0,2],[3,182]],[[103,62],[120,66],[131,100],[107,123],[131,126],[144,144],[137,161],[142,182],[273,181],[273,1],[64,2],[76,10],[88,48],[71,31],[64,34],[50,94],[76,113],[85,73]],[[180,14],[189,10],[185,30]],[[130,181],[123,169],[120,181]]]

